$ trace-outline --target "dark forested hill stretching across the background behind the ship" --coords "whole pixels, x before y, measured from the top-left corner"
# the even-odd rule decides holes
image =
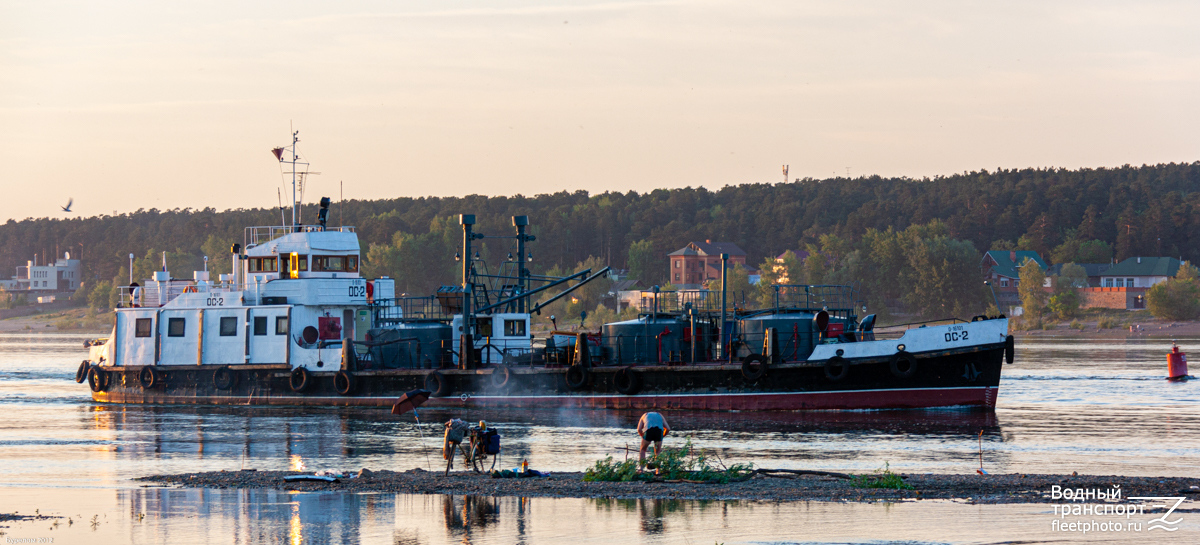
[[[666,281],[665,254],[689,240],[737,242],[757,264],[785,250],[870,252],[860,246],[869,229],[901,232],[934,220],[949,238],[973,244],[980,256],[997,245],[1036,250],[1050,260],[1056,253],[1074,259],[1079,244],[1099,240],[1117,259],[1138,254],[1192,259],[1200,257],[1198,190],[1200,162],[978,172],[931,180],[805,179],[718,191],[348,200],[334,204],[330,223],[358,226],[364,253],[368,262],[374,259],[365,264],[368,271],[371,266],[396,275],[408,271],[410,279],[400,280],[401,288],[410,291],[455,281],[434,276],[454,271],[461,233],[457,214],[463,212],[476,215],[476,230],[494,235],[512,232],[510,216],[528,215],[538,236],[530,245],[536,270],[572,268],[589,256],[623,269],[630,265],[630,246],[640,242],[642,257],[635,256],[632,269],[653,283]],[[306,206],[305,217],[316,217],[313,206]],[[176,277],[188,277],[204,254],[214,269],[228,270],[229,245],[241,241],[244,227],[278,221],[278,210],[211,209],[10,220],[0,226],[0,274],[7,277],[34,254],[41,260],[55,250],[73,254],[82,250],[85,279],[125,274],[131,252],[145,262],[139,269],[156,266],[158,259],[149,258],[157,252],[172,252]],[[508,251],[499,242],[485,248],[492,258]],[[388,259],[396,263],[384,266]]]

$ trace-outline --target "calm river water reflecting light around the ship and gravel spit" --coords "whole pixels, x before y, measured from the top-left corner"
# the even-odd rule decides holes
[[[84,336],[0,335],[0,522],[5,543],[1010,543],[1200,541],[1200,513],[1153,537],[1055,532],[1051,505],[490,498],[146,487],[132,478],[220,469],[433,468],[438,423],[486,419],[502,463],[581,471],[636,445],[638,414],[523,411],[392,417],[378,409],[92,403],[71,381]],[[1180,340],[1200,352],[1200,340]],[[958,409],[667,413],[756,467],[906,473],[1200,474],[1200,382],[1163,379],[1160,340],[1022,341],[995,413]],[[1195,373],[1195,372],[1193,372]],[[432,425],[430,424],[432,423]],[[1186,505],[1190,504],[1188,502]],[[1192,505],[1194,507],[1194,505]],[[1136,539],[1135,539],[1136,538]],[[36,543],[36,541],[26,541]],[[50,543],[50,541],[42,541]]]

